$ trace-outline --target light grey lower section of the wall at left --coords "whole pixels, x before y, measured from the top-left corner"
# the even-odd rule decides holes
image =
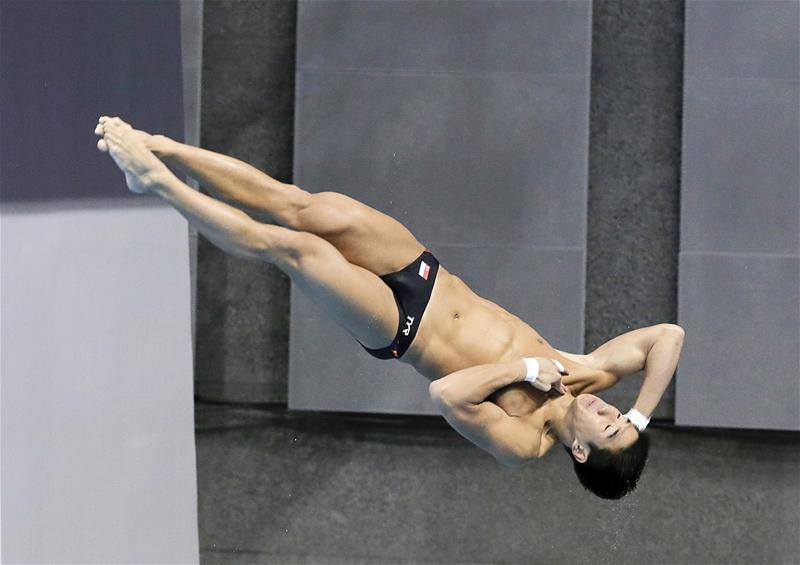
[[[114,202],[3,205],[3,563],[198,562],[186,222]]]

